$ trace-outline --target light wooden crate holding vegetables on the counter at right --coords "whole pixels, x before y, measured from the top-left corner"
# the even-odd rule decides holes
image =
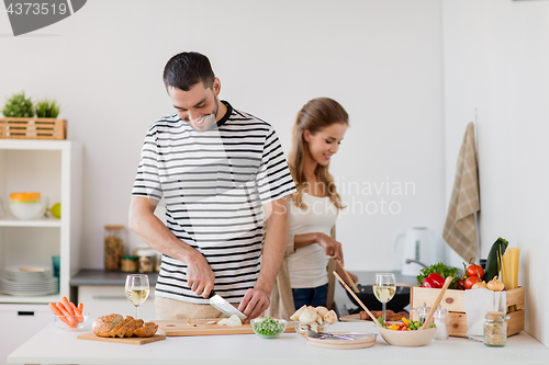
[[[441,289],[432,289],[426,287],[414,286],[410,292],[410,306],[417,308],[424,303],[427,306],[433,305]],[[506,306],[507,316],[507,335],[513,335],[524,331],[524,313],[525,313],[525,290],[524,287],[507,290]],[[442,296],[440,305],[448,309],[448,318],[446,319],[446,327],[448,333],[452,337],[464,338],[467,337],[467,315],[463,308],[466,301],[466,290],[448,289]],[[516,311],[509,312],[509,307],[515,306]],[[416,319],[417,320],[417,319]]]

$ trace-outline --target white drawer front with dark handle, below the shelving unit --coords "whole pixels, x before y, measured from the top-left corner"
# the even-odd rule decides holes
[[[0,306],[0,365],[15,349],[25,343],[36,332],[52,323],[52,311],[46,305],[2,305]]]

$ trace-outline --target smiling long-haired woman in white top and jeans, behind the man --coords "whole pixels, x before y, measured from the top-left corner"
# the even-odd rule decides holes
[[[295,309],[303,305],[326,306],[328,259],[341,264],[344,261],[341,243],[330,237],[344,206],[328,168],[349,126],[348,119],[338,102],[317,98],[303,106],[293,126],[288,164],[298,192],[287,196],[290,220],[287,253],[294,252],[285,259]],[[356,275],[350,276],[357,282]]]

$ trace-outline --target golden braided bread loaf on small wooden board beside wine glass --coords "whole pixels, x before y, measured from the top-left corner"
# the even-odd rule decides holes
[[[93,333],[101,338],[150,338],[158,330],[154,322],[144,323],[143,319],[134,319],[131,316],[123,318],[121,315],[109,315],[99,317],[91,327]]]

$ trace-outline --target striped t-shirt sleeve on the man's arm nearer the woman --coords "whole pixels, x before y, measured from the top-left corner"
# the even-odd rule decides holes
[[[265,140],[261,166],[257,174],[257,187],[262,204],[295,192],[295,184],[290,174],[284,152],[272,127],[270,127]]]

